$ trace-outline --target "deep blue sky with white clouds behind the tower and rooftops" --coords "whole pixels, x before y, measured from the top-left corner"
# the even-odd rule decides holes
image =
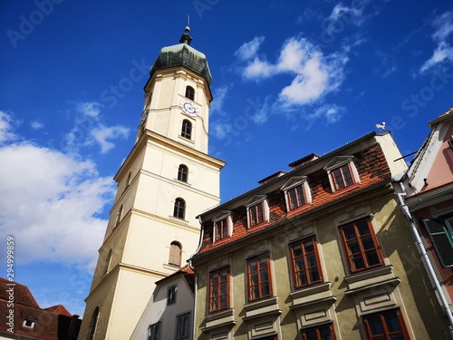
[[[188,15],[213,75],[223,201],[382,121],[417,151],[453,105],[447,0],[4,1],[0,237],[14,237],[15,279],[40,306],[82,315],[149,67]]]

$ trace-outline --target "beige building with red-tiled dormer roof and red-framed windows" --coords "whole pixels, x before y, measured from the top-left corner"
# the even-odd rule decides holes
[[[389,132],[311,154],[201,214],[196,339],[443,339]]]

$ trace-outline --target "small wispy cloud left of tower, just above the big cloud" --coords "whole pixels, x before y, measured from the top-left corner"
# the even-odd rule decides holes
[[[114,140],[128,138],[129,128],[102,123],[102,107],[99,102],[75,103],[75,125],[64,135],[65,151],[77,152],[82,147],[99,145],[101,153],[106,153],[115,147]]]

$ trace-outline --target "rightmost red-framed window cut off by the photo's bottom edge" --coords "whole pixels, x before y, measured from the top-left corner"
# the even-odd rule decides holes
[[[406,340],[410,338],[398,309],[364,316],[363,319],[369,340]]]

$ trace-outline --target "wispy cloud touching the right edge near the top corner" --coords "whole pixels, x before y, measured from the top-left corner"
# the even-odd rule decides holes
[[[448,41],[448,37],[453,33],[453,12],[435,17],[431,24],[435,28],[432,39],[437,46],[431,57],[421,65],[420,73],[428,71],[439,63],[453,62],[453,46]]]

